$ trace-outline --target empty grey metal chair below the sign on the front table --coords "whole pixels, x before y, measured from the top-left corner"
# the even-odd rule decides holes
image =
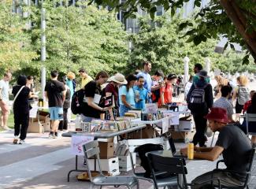
[[[91,187],[92,189],[95,185],[100,186],[126,186],[129,189],[132,187],[137,187],[139,189],[139,181],[134,176],[104,176],[102,173],[102,169],[100,166],[100,160],[99,160],[99,148],[98,148],[98,141],[91,141],[90,143],[86,143],[83,145],[83,152],[85,155],[85,160],[87,161],[88,158],[95,157],[96,161],[98,162],[98,169],[99,169],[99,176],[95,176],[92,178],[91,176],[91,170],[89,168],[89,164],[87,161],[87,172],[89,174],[90,180],[91,180]]]

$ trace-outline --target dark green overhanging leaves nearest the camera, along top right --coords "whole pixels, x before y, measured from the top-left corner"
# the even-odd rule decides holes
[[[236,1],[238,9],[244,14],[247,20],[246,31],[251,34],[252,31],[256,31],[256,2],[254,0],[233,0]],[[143,9],[147,12],[151,19],[155,19],[156,6],[164,7],[165,11],[170,10],[171,16],[176,13],[177,9],[182,9],[184,3],[189,2],[189,0],[155,0],[155,1],[145,1],[145,0],[127,0],[121,5],[117,3],[109,3],[109,0],[96,1],[98,5],[110,6],[112,9],[120,10],[125,9],[125,17],[134,17],[135,13],[138,12],[138,8]],[[117,2],[117,1],[114,1]],[[190,28],[187,31],[189,35],[189,40],[187,42],[193,42],[195,45],[199,43],[206,42],[207,39],[219,39],[220,35],[226,37],[228,43],[239,43],[243,46],[243,49],[247,49],[243,37],[236,31],[236,26],[228,18],[224,9],[222,8],[219,0],[208,1],[209,4],[201,9],[202,0],[194,1],[194,8],[200,9],[193,20],[196,21],[194,27],[190,23],[182,23],[180,29]],[[192,28],[191,28],[192,27]],[[252,53],[252,50],[250,50]],[[249,52],[247,52],[249,54]],[[252,53],[254,61],[256,60],[255,52]],[[244,57],[244,63],[248,63],[248,56]],[[256,62],[256,61],[255,61]]]

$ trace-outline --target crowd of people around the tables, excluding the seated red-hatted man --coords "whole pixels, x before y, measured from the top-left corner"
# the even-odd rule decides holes
[[[58,71],[50,72],[50,80],[46,83],[45,97],[48,101],[51,131],[50,138],[58,136],[58,130],[68,129],[68,109],[71,107],[72,96],[78,90],[83,91],[83,102],[80,102],[80,116],[83,121],[92,119],[115,120],[116,117],[124,116],[130,109],[145,109],[146,103],[158,103],[158,107],[173,102],[173,97],[180,93],[182,77],[170,73],[165,76],[161,70],[157,70],[154,76],[150,76],[151,63],[143,61],[143,70],[135,71],[135,74],[124,76],[117,72],[113,76],[105,71],[98,72],[95,80],[87,74],[86,69],[79,69],[81,82],[76,83],[74,72],[68,72],[61,79]],[[251,106],[250,97],[254,91],[247,87],[247,77],[239,76],[237,86],[233,86],[224,76],[215,76],[217,85],[212,87],[210,76],[202,69],[202,65],[195,64],[195,75],[184,85],[184,96],[187,106],[195,121],[195,135],[193,143],[205,146],[207,137],[205,134],[207,120],[206,114],[212,107],[220,107],[227,110],[228,120],[235,122],[233,105],[236,113],[243,113]],[[12,75],[6,72],[0,81],[0,106],[2,109],[2,129],[7,127],[9,115],[9,80]],[[17,85],[13,87],[13,113],[14,113],[14,139],[13,143],[24,143],[28,129],[30,102],[35,95],[32,76],[19,76]],[[179,91],[179,92],[177,92]],[[102,98],[111,97],[111,105],[102,105]],[[203,97],[203,98],[200,98]],[[213,103],[213,99],[215,102]],[[198,101],[202,101],[198,103]],[[243,110],[244,106],[244,110]],[[243,125],[240,127],[243,128]],[[244,129],[243,129],[244,130]]]

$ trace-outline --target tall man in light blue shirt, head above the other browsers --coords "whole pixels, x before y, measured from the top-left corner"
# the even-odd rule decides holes
[[[147,89],[149,102],[152,102],[151,101],[151,91],[158,90],[158,88],[160,88],[160,85],[153,86],[153,82],[152,82],[151,76],[149,74],[149,72],[151,71],[150,61],[143,61],[143,69],[144,70],[142,72],[139,72],[137,74],[137,78],[139,78],[139,76],[143,76],[143,78],[144,78],[143,87]]]

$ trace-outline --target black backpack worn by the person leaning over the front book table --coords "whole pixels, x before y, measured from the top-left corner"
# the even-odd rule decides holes
[[[84,90],[80,89],[72,95],[71,111],[73,114],[82,113]]]

